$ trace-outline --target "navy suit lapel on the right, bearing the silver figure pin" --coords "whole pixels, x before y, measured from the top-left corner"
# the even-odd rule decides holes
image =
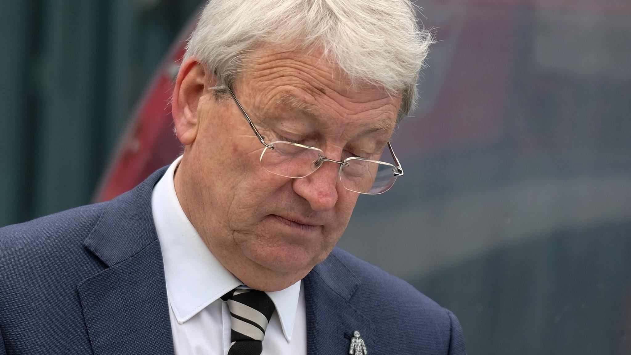
[[[358,330],[370,354],[375,354],[374,324],[349,303],[360,282],[331,253],[305,277],[307,355],[348,354]]]

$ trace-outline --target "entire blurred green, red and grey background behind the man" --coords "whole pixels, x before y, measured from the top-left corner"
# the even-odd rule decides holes
[[[461,320],[469,354],[631,354],[631,3],[423,0],[405,176],[339,246]],[[0,226],[122,193],[180,152],[201,1],[0,1]]]

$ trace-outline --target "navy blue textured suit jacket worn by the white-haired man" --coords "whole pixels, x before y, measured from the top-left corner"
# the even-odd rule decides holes
[[[0,354],[174,354],[151,191],[0,229]],[[307,354],[465,354],[456,316],[335,249],[304,279]]]

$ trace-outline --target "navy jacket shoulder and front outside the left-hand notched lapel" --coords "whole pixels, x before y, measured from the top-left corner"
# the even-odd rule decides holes
[[[0,323],[11,339],[9,353],[90,349],[77,284],[106,267],[83,245],[103,207],[82,206],[0,229]]]

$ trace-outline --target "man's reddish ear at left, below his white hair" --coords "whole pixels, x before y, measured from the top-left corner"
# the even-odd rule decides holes
[[[198,105],[208,80],[214,80],[197,59],[187,59],[177,73],[173,90],[172,114],[177,138],[183,145],[195,141],[199,129]]]

